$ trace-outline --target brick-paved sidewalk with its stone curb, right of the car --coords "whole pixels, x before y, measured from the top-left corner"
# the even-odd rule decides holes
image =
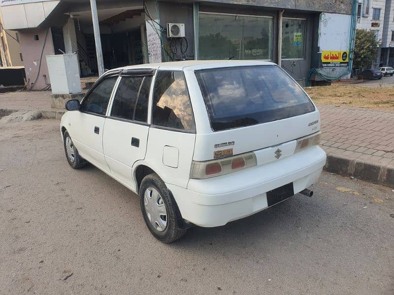
[[[394,111],[319,105],[330,172],[394,187]]]

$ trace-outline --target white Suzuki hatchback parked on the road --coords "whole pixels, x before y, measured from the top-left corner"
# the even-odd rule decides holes
[[[320,176],[320,115],[264,61],[180,61],[106,72],[66,103],[68,163],[90,162],[140,197],[163,242],[227,224],[301,192]]]

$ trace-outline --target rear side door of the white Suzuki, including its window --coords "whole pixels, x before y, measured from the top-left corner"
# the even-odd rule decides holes
[[[123,72],[105,120],[103,148],[111,174],[135,187],[131,167],[145,158],[148,102],[154,70]]]

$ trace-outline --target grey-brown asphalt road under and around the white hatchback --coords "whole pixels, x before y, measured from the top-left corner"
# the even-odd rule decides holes
[[[136,195],[68,166],[58,126],[0,126],[0,294],[394,294],[391,188],[324,173],[311,199],[165,245]]]

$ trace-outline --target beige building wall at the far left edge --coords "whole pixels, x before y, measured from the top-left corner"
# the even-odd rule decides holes
[[[0,14],[0,58],[1,65],[5,66],[23,66],[19,46],[19,35],[15,31],[5,31],[2,26]]]

